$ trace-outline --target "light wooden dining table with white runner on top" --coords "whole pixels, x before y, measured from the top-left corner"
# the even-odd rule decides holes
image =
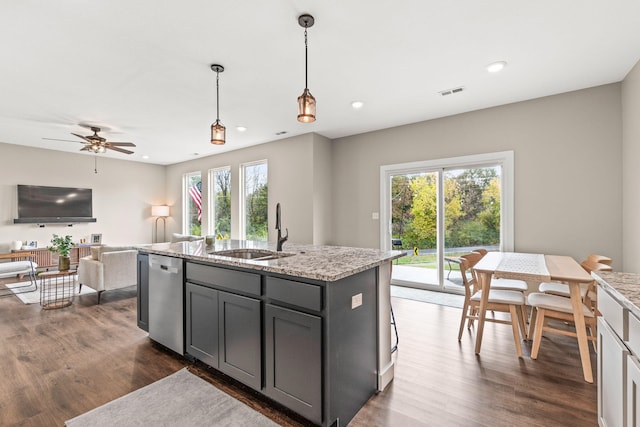
[[[476,354],[480,354],[482,333],[487,315],[489,298],[488,290],[491,279],[507,278],[520,279],[528,283],[542,283],[548,281],[563,282],[569,285],[573,319],[575,322],[578,349],[582,372],[586,382],[593,382],[591,358],[589,356],[589,341],[587,328],[582,311],[582,296],[580,284],[590,283],[593,277],[572,257],[565,255],[544,255],[520,252],[488,252],[475,266],[474,271],[478,279],[482,298],[478,313],[478,330],[476,334]],[[535,343],[534,343],[535,345]]]

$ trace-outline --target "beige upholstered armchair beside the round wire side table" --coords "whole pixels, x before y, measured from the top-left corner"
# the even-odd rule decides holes
[[[91,255],[80,258],[78,282],[98,292],[98,304],[104,291],[137,284],[136,249],[128,246],[92,246]]]

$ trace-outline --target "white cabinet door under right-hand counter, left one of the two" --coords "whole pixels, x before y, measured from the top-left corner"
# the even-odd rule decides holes
[[[609,324],[598,317],[598,423],[624,426],[626,361],[629,350]]]

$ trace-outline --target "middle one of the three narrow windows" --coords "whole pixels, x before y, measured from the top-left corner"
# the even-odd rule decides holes
[[[209,171],[209,228],[216,239],[231,238],[231,169]]]

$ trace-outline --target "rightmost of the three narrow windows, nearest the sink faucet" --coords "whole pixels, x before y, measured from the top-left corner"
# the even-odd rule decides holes
[[[269,229],[267,161],[245,163],[240,166],[242,176],[241,238],[267,241]]]

